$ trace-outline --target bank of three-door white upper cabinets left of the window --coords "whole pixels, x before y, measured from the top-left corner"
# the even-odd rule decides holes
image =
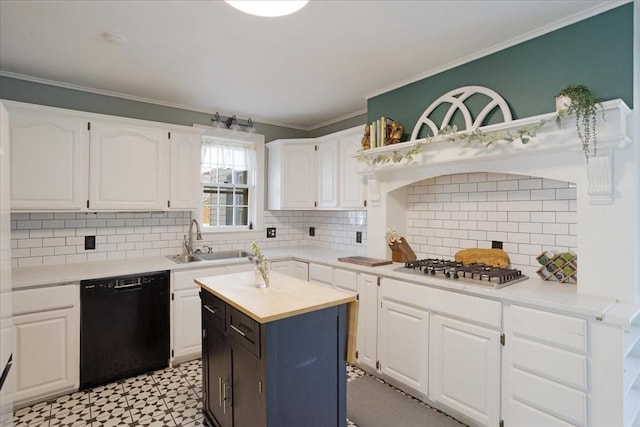
[[[9,112],[12,211],[198,207],[200,130],[3,103]]]

